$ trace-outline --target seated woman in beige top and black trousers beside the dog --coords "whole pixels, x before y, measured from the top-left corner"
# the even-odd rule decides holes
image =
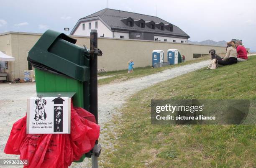
[[[233,42],[227,43],[227,52],[223,60],[218,60],[218,64],[220,65],[231,65],[237,63],[237,56],[236,56],[236,48]]]

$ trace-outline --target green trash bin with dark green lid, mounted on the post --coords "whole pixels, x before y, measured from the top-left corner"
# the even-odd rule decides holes
[[[89,111],[90,51],[76,41],[48,30],[28,52],[28,61],[35,67],[36,92],[76,92],[74,106]]]

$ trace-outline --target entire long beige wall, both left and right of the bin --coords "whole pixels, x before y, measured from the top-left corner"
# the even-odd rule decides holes
[[[15,57],[15,62],[9,62],[8,78],[10,81],[13,80],[10,76],[12,71],[18,72],[28,69],[28,51],[41,35],[39,33],[20,32],[0,34],[0,51],[5,51],[6,54]],[[88,48],[90,47],[89,37],[71,37],[77,39],[77,45],[83,46],[85,44]],[[164,61],[167,61],[166,52],[169,48],[177,48],[182,55],[186,56],[186,60],[192,60],[194,53],[208,54],[211,48],[214,48],[217,53],[225,53],[225,47],[120,38],[98,38],[98,47],[103,52],[103,56],[98,57],[98,68],[105,68],[106,71],[127,69],[127,62],[130,59],[134,60],[134,67],[151,66],[152,51],[155,49],[164,50]]]

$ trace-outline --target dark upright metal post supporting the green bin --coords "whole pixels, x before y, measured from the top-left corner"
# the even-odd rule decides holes
[[[96,122],[98,123],[98,82],[97,82],[97,48],[98,33],[97,30],[91,30],[90,33],[90,112],[95,116]],[[97,148],[97,141],[92,151]],[[92,168],[98,168],[98,157],[95,153],[92,153]]]

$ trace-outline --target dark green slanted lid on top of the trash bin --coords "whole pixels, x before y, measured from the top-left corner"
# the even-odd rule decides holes
[[[84,61],[87,51],[75,45],[76,42],[64,33],[47,30],[28,52],[28,61],[73,79],[88,81],[90,69]]]

